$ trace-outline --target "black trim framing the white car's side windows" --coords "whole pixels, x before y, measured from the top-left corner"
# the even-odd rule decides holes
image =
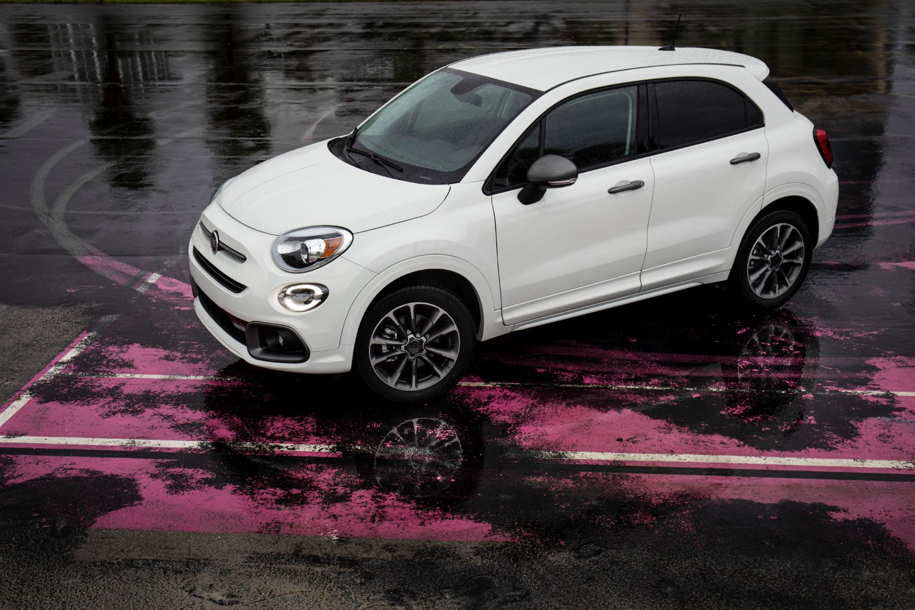
[[[673,80],[706,80],[709,82],[715,82],[717,84],[725,85],[727,88],[737,91],[737,94],[740,95],[740,97],[742,97],[744,99],[745,103],[750,103],[753,105],[754,108],[756,108],[757,112],[759,112],[759,116],[762,117],[762,123],[759,123],[758,125],[751,125],[749,127],[744,127],[743,129],[737,130],[735,132],[728,132],[727,134],[720,134],[720,135],[716,135],[714,137],[705,138],[705,140],[696,140],[695,142],[689,142],[687,144],[680,144],[679,146],[672,146],[670,148],[660,148],[657,144],[658,105],[657,105],[657,100],[655,99],[653,85],[657,82],[670,82]],[[569,80],[568,82],[572,82],[572,80]],[[563,84],[565,84],[565,83],[563,83]],[[746,134],[748,132],[751,132],[751,131],[754,131],[754,130],[757,130],[757,129],[760,129],[760,128],[763,128],[766,126],[766,114],[765,114],[765,112],[762,112],[761,108],[759,108],[759,104],[757,104],[756,102],[753,102],[752,98],[750,98],[745,92],[737,89],[737,87],[735,87],[731,83],[726,82],[724,80],[713,79],[711,77],[678,76],[678,77],[669,77],[669,78],[662,78],[662,79],[633,80],[632,82],[625,82],[625,83],[619,83],[619,84],[609,85],[609,86],[604,86],[604,87],[597,87],[595,89],[589,89],[587,91],[579,91],[579,92],[577,92],[573,95],[570,95],[569,97],[561,100],[560,102],[554,103],[554,105],[550,106],[550,108],[548,108],[539,117],[537,117],[536,121],[531,123],[530,126],[528,126],[528,128],[526,130],[524,130],[524,133],[522,134],[522,136],[520,138],[518,138],[513,144],[511,144],[511,146],[509,147],[509,149],[505,153],[505,155],[502,155],[501,159],[499,160],[499,163],[497,163],[495,166],[492,167],[489,177],[487,177],[486,180],[483,181],[483,194],[489,195],[489,196],[499,195],[500,193],[507,193],[509,191],[512,191],[512,190],[515,190],[518,188],[522,188],[524,186],[524,185],[514,185],[511,187],[492,188],[492,180],[495,177],[496,170],[509,157],[509,155],[511,155],[511,153],[514,152],[515,147],[518,144],[521,144],[522,141],[524,140],[524,138],[526,138],[528,136],[528,134],[531,133],[531,131],[533,130],[535,125],[541,126],[540,150],[541,151],[544,150],[545,132],[544,132],[544,128],[543,128],[544,127],[543,123],[544,123],[544,119],[546,118],[546,115],[549,114],[550,112],[552,112],[554,110],[554,108],[557,108],[558,106],[561,106],[565,102],[574,100],[577,97],[580,97],[582,95],[587,95],[589,93],[596,93],[598,91],[609,91],[611,89],[621,89],[623,87],[632,87],[632,86],[639,87],[639,100],[638,100],[639,113],[636,116],[636,125],[637,125],[636,141],[639,144],[640,152],[637,155],[624,156],[622,158],[617,159],[616,161],[611,161],[609,163],[605,163],[605,164],[602,164],[599,166],[588,167],[585,170],[580,170],[580,173],[584,174],[586,172],[594,171],[596,169],[603,169],[604,167],[616,166],[621,163],[629,163],[630,161],[635,161],[637,159],[641,159],[641,158],[644,158],[647,156],[661,155],[663,153],[669,153],[674,150],[680,150],[681,148],[686,148],[687,146],[694,146],[696,144],[705,144],[706,142],[714,142],[715,140],[727,138],[727,137],[730,137],[731,135]],[[533,102],[531,102],[531,103],[533,103]],[[490,143],[490,145],[491,145],[491,143]]]

